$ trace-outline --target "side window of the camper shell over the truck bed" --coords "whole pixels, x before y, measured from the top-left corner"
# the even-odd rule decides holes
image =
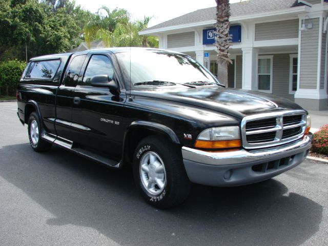
[[[59,67],[60,60],[39,60],[32,61],[29,70],[26,73],[26,78],[46,78],[52,79]]]

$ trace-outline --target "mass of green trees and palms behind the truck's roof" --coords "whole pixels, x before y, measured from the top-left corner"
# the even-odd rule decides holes
[[[140,36],[150,17],[132,22],[125,9],[106,6],[92,14],[71,0],[1,0],[0,61],[67,52],[86,41],[106,47],[158,47],[158,39]],[[101,14],[101,12],[103,14]]]

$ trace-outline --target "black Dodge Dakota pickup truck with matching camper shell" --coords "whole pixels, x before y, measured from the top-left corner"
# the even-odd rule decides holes
[[[310,117],[270,94],[230,90],[193,58],[113,48],[30,59],[18,117],[35,151],[52,145],[112,168],[132,166],[142,196],[169,208],[191,182],[240,186],[301,163]]]

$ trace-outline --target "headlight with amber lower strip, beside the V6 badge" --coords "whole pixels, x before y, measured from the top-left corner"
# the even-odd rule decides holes
[[[241,147],[240,130],[237,126],[213,127],[202,131],[195,141],[196,148],[221,149]]]

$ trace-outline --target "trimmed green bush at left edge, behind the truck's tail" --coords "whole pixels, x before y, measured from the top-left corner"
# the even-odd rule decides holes
[[[17,59],[0,63],[0,95],[15,95],[25,66],[26,63],[24,61]]]

